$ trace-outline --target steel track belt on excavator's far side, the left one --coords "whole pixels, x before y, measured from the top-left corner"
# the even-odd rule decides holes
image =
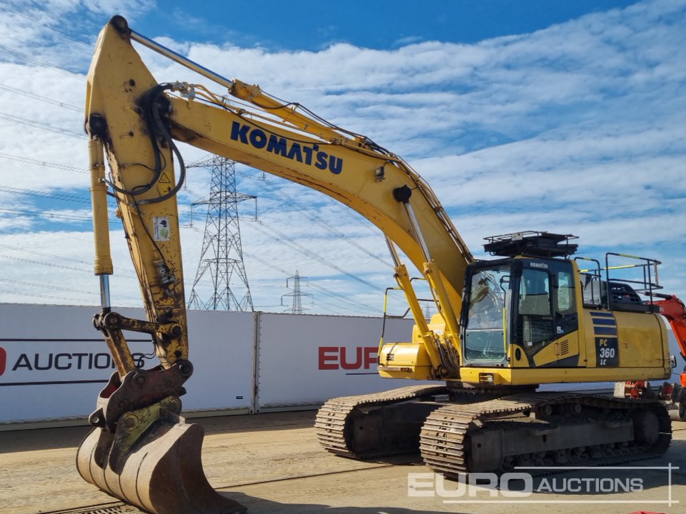
[[[344,396],[332,398],[326,402],[317,413],[315,429],[319,442],[329,452],[351,458],[375,458],[399,453],[407,450],[378,450],[374,452],[357,452],[353,448],[347,424],[353,411],[358,408],[373,408],[390,404],[415,400],[430,395],[447,394],[445,386],[410,386],[392,389],[382,393],[372,393],[359,396]],[[416,450],[415,450],[416,451]]]

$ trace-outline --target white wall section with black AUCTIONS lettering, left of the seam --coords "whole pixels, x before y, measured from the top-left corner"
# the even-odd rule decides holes
[[[0,305],[0,423],[85,417],[115,367],[94,307]],[[145,319],[142,309],[119,313]],[[191,311],[187,411],[252,407],[252,313]],[[127,332],[137,364],[158,364],[150,338]]]

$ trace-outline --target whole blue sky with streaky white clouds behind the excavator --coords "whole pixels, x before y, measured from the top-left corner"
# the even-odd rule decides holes
[[[97,303],[81,108],[93,42],[117,13],[409,160],[475,254],[488,235],[570,232],[586,256],[659,258],[667,291],[686,296],[686,0],[189,5],[0,5],[0,302]],[[161,82],[189,79],[143,57]],[[393,279],[378,230],[301,186],[245,167],[237,178],[259,197],[259,222],[241,212],[256,308],[283,310],[297,270],[311,312],[379,314]],[[209,170],[193,169],[188,188],[185,213]],[[139,305],[112,228],[113,300]],[[196,209],[182,234],[187,282],[203,228]]]

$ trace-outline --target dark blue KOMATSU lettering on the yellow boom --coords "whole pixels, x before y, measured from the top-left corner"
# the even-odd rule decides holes
[[[343,171],[343,159],[321,151],[316,143],[288,140],[275,134],[267,134],[264,130],[237,121],[231,125],[230,138],[234,141],[240,141],[244,145],[266,149],[272,154],[303,162],[317,169],[329,169],[334,175]]]

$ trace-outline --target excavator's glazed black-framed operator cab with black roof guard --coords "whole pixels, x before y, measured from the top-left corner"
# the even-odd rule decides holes
[[[510,343],[533,356],[578,330],[573,265],[566,259],[576,252],[573,238],[546,232],[487,238],[484,249],[506,258],[476,262],[467,270],[464,365],[508,366]]]

